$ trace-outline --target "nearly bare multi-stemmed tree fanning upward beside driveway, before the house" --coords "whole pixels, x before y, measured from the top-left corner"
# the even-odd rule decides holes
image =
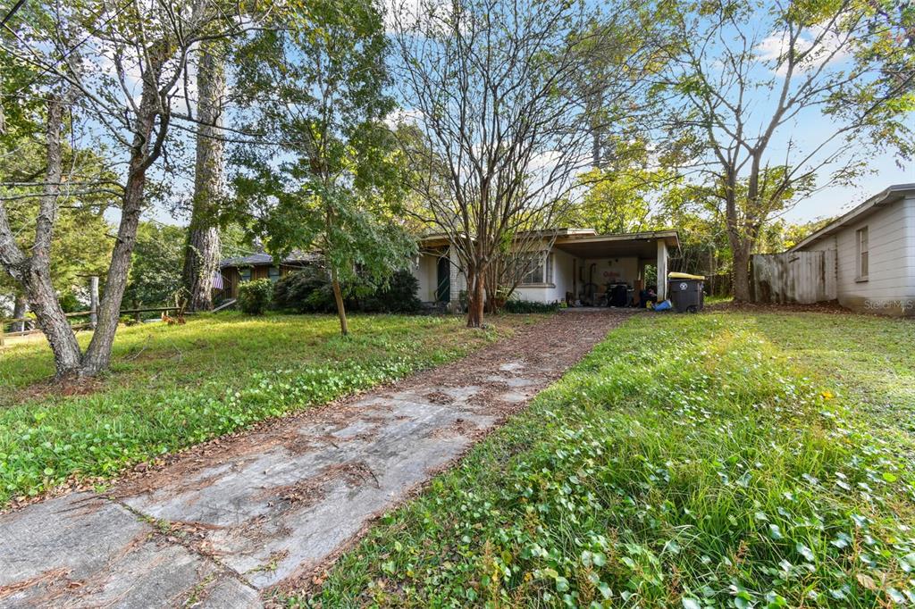
[[[581,86],[582,75],[595,73],[597,49],[615,48],[599,62],[618,65],[619,80],[628,78],[626,60],[649,60],[642,45],[611,40],[622,23],[645,21],[634,10],[619,3],[601,16],[575,0],[395,5],[393,73],[419,134],[406,147],[409,184],[423,201],[415,213],[457,254],[468,326],[482,325],[492,283],[522,276],[519,264],[536,259],[531,249],[548,248],[550,230],[587,187],[579,176],[595,131],[612,133],[622,114],[594,112],[625,87],[595,91]]]

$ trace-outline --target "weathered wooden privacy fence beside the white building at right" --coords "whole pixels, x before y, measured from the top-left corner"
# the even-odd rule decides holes
[[[754,303],[813,305],[838,297],[835,250],[756,254],[750,278]]]

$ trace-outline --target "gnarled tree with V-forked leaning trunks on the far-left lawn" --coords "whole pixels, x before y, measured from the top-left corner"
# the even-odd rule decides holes
[[[48,337],[59,378],[92,376],[108,367],[148,173],[179,118],[178,99],[187,97],[188,56],[201,42],[239,37],[256,28],[258,20],[242,16],[243,10],[241,4],[210,0],[70,0],[25,5],[7,24],[8,59],[34,72],[12,99],[40,102],[45,163],[41,179],[31,185],[39,205],[29,247],[16,242],[0,201],[0,265],[27,295]],[[62,141],[81,135],[74,129],[78,123],[81,134],[94,137],[98,149],[110,153],[122,170],[119,183],[104,185],[116,188],[120,220],[98,326],[85,352],[59,305],[49,255],[61,197],[74,194],[62,164]],[[100,186],[81,190],[89,193]]]

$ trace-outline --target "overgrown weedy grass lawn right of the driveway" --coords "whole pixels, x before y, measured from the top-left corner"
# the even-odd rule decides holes
[[[287,601],[912,604],[913,344],[877,317],[638,315]]]

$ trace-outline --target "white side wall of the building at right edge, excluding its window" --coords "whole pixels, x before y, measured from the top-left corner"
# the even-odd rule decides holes
[[[867,281],[857,281],[856,231],[867,226]],[[804,248],[836,251],[839,304],[855,311],[915,315],[915,198],[880,208],[865,219]]]

